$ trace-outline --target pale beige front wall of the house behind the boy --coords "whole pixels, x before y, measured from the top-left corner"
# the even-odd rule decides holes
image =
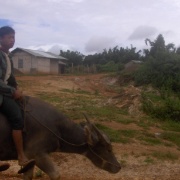
[[[13,55],[14,68],[23,73],[50,73],[50,59],[35,57],[26,52],[16,52]],[[23,68],[18,68],[18,60],[23,60]]]

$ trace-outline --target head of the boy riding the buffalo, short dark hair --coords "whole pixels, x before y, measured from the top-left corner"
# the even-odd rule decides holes
[[[9,26],[0,28],[0,44],[1,47],[9,50],[15,43],[15,30]]]

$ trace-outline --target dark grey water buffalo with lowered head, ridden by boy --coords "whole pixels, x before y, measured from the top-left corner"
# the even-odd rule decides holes
[[[97,167],[117,173],[121,167],[116,160],[108,137],[87,120],[81,126],[68,119],[52,105],[34,97],[26,97],[24,148],[27,157],[52,180],[60,179],[59,168],[51,160],[51,152],[79,153]],[[17,159],[11,128],[0,114],[0,160]],[[24,173],[24,180],[33,178],[33,168]]]

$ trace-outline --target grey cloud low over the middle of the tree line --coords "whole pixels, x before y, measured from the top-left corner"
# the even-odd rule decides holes
[[[100,52],[114,44],[115,38],[111,37],[92,37],[85,46],[86,52]]]

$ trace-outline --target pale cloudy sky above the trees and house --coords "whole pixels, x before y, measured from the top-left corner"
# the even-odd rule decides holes
[[[162,34],[180,46],[179,0],[0,0],[0,27],[16,31],[14,48],[84,55],[148,48]]]

